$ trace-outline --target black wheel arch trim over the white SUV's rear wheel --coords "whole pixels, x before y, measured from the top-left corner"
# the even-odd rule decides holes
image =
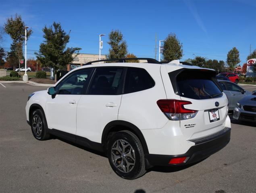
[[[121,121],[121,120],[111,121],[104,127],[103,132],[102,132],[101,143],[104,146],[105,150],[106,150],[106,142],[107,142],[108,134],[111,132],[116,133],[116,132],[122,131],[122,130],[128,130],[128,131],[133,132],[139,138],[140,142],[142,143],[144,153],[148,154],[148,146],[147,146],[146,140],[142,134],[142,131],[140,131],[139,128],[137,126],[133,125],[132,123],[127,122],[127,121]]]

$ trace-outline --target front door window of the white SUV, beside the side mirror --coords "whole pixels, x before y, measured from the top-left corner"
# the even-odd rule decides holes
[[[92,68],[77,70],[65,78],[57,86],[58,94],[83,94],[83,88],[87,83],[87,78],[92,72]]]

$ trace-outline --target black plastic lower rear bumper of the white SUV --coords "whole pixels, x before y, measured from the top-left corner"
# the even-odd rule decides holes
[[[172,158],[189,157],[185,163],[178,165],[191,164],[207,158],[208,156],[218,152],[224,148],[230,141],[231,128],[225,127],[223,130],[204,138],[189,140],[195,145],[189,148],[185,154],[179,155],[159,155],[145,154],[146,165],[151,166],[172,166],[169,161]]]

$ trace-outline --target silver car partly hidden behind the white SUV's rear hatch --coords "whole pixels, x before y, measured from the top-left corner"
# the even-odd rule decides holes
[[[218,82],[221,85],[223,92],[226,94],[227,99],[229,100],[229,110],[234,110],[239,100],[243,99],[249,94],[252,94],[252,92],[244,90],[231,81],[218,80]]]

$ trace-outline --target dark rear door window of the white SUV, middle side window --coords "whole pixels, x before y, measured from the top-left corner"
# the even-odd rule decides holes
[[[123,68],[96,68],[88,94],[115,95],[121,94],[121,76]]]

